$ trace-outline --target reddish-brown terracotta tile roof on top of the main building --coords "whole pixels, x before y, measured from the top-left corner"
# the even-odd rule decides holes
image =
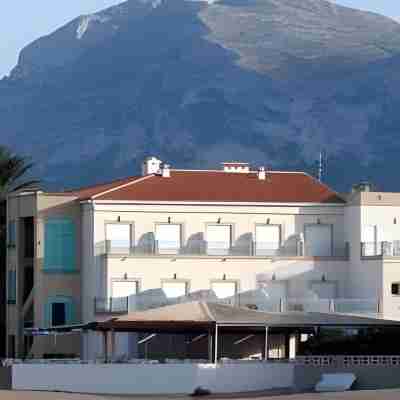
[[[170,178],[150,175],[121,188],[113,186],[116,189],[111,192],[101,194],[97,190],[96,200],[345,203],[336,192],[305,173],[269,172],[267,176],[267,180],[259,180],[255,172],[172,170]],[[90,190],[81,193],[88,196]]]

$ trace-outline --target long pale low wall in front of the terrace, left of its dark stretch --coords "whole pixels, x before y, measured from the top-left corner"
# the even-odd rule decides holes
[[[294,385],[294,365],[232,364],[18,364],[14,390],[103,394],[190,394],[197,387],[238,393]]]

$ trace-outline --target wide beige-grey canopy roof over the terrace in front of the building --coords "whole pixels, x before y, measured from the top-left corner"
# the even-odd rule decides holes
[[[211,302],[190,302],[133,312],[96,324],[96,330],[178,333],[231,328],[400,327],[400,321],[348,314],[263,312]]]

